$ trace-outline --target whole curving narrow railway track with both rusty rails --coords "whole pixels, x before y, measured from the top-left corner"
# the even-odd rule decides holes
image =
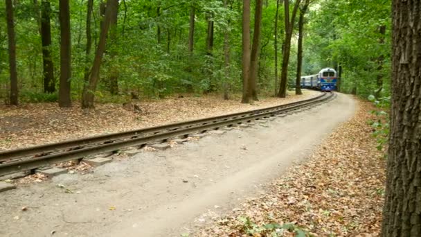
[[[332,93],[301,100],[285,105],[256,109],[235,114],[226,114],[206,119],[197,119],[181,123],[171,123],[152,128],[105,134],[85,139],[62,141],[42,146],[7,150],[0,152],[0,177],[21,171],[33,171],[43,166],[83,159],[91,155],[114,152],[129,147],[141,148],[148,143],[161,143],[174,137],[187,137],[189,134],[217,130],[241,123],[269,118],[277,114],[292,112],[303,107],[310,107],[334,98]]]

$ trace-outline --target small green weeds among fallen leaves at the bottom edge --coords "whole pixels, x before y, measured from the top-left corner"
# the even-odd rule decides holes
[[[262,236],[284,236],[285,231],[289,231],[294,233],[298,237],[306,237],[310,236],[308,231],[297,227],[292,223],[287,223],[280,225],[278,223],[270,223],[265,225],[256,225],[249,217],[240,217],[238,218],[240,222],[242,222],[241,229],[246,234],[250,236],[254,236],[255,234],[260,234]]]

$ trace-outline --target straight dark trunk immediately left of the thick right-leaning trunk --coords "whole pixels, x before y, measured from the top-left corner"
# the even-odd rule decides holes
[[[69,0],[60,0],[60,89],[58,105],[71,107],[71,35]]]

